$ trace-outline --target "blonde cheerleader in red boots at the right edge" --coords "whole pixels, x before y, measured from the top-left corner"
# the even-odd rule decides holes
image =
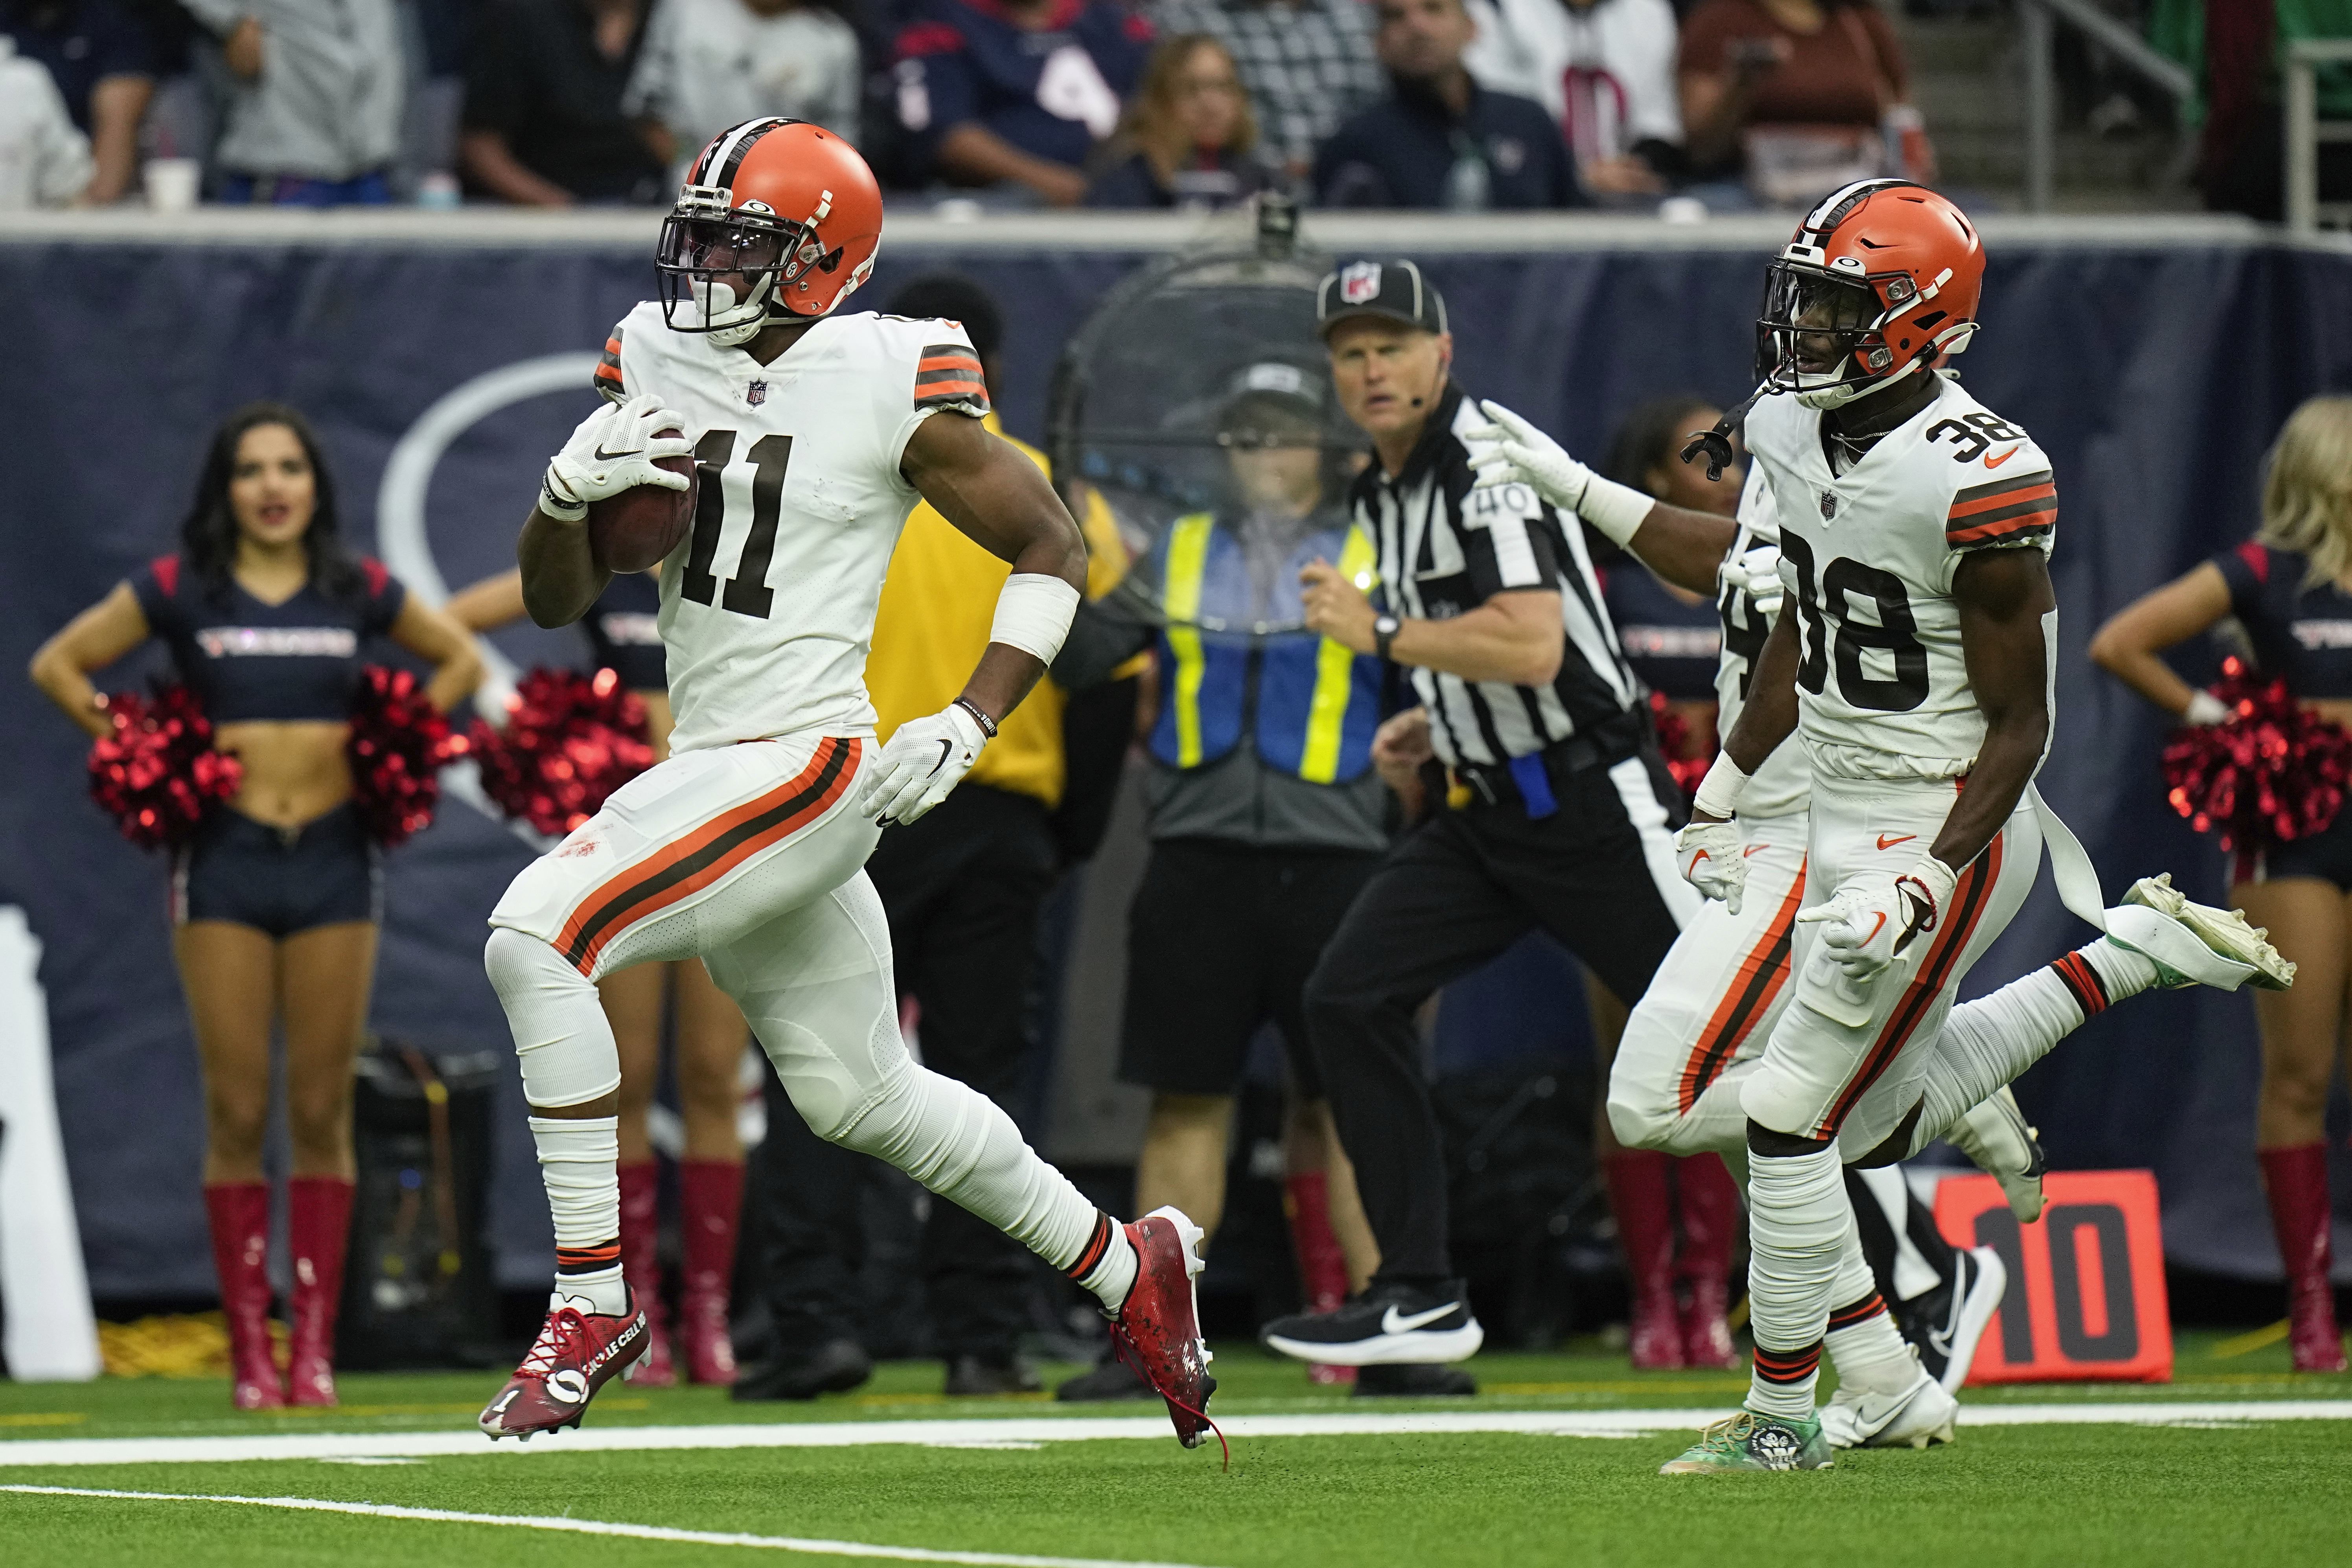
[[[2263,527],[2187,576],[2133,602],[2091,639],[2091,658],[2183,724],[2230,717],[2159,654],[2237,616],[2265,679],[2307,710],[2352,724],[2352,397],[2314,397],[2286,421],[2263,480]],[[2293,990],[2253,992],[2263,1086],[2253,1147],[2286,1265],[2296,1371],[2340,1373],[2328,1291],[2324,1117],[2345,1039],[2352,973],[2352,811],[2314,837],[2241,856],[2230,903],[2296,961]]]

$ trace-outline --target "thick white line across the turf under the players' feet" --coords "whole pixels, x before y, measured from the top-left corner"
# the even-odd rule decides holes
[[[1696,1432],[1729,1410],[1345,1410],[1331,1415],[1235,1415],[1235,1441],[1279,1436],[1449,1436],[1519,1432],[1526,1436],[1653,1436]],[[2241,1399],[2133,1403],[1976,1403],[1962,1408],[1964,1427],[2072,1425],[2237,1425],[2265,1420],[2352,1420],[2352,1399]],[[649,1448],[866,1448],[915,1443],[929,1448],[1021,1448],[1105,1439],[1169,1441],[1160,1415],[997,1420],[844,1420],[731,1422],[710,1427],[588,1427],[553,1432],[534,1443],[492,1443],[477,1432],[270,1432],[254,1436],[87,1436],[0,1441],[0,1469],[52,1465],[207,1465],[242,1460],[402,1460],[482,1455],[642,1453]]]

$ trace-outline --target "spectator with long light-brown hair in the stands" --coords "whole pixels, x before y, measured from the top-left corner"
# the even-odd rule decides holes
[[[1225,45],[1207,33],[1152,49],[1110,167],[1089,207],[1230,207],[1275,183],[1258,162],[1258,125]]]

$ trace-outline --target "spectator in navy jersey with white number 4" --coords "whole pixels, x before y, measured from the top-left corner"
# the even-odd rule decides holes
[[[896,87],[917,169],[1077,207],[1150,38],[1112,0],[915,0]]]

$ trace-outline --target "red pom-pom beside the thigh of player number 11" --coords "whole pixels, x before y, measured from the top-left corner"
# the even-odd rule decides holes
[[[508,816],[562,837],[604,797],[654,766],[644,703],[612,670],[532,670],[506,708],[506,731],[473,722],[482,792]]]

